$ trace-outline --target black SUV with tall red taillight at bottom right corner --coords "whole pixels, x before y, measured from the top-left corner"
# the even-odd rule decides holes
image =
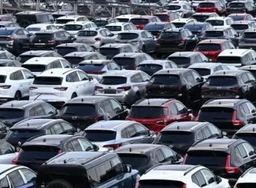
[[[241,175],[255,167],[256,151],[247,141],[207,139],[189,148],[183,164],[201,164],[234,185]]]

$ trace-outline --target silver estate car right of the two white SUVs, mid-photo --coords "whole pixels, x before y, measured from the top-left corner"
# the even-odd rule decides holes
[[[107,73],[96,84],[94,95],[113,97],[119,103],[130,106],[145,96],[148,81],[150,76],[142,71]]]

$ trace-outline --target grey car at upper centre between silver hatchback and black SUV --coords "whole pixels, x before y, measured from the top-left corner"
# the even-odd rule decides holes
[[[150,32],[146,30],[132,30],[121,32],[115,39],[115,43],[131,43],[142,50],[142,52],[154,52],[156,50],[156,40]]]

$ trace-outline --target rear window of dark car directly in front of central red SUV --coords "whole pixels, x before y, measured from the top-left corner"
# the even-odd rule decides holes
[[[156,142],[164,144],[193,144],[194,135],[187,131],[163,131],[156,137]]]

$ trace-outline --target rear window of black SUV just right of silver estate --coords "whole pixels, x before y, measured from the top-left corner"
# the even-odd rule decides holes
[[[181,85],[181,79],[177,75],[154,75],[150,82],[160,85]]]

